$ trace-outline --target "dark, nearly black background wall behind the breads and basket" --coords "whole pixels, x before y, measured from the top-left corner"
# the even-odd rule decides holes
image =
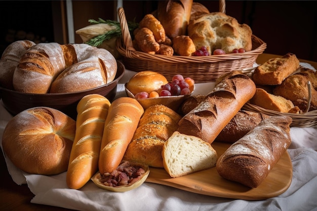
[[[195,1],[210,12],[219,1]],[[0,53],[13,41],[68,42],[65,1],[0,1]],[[127,20],[140,21],[157,1],[124,1]],[[74,31],[88,19],[116,20],[116,1],[72,1]],[[264,53],[317,61],[317,1],[226,1],[226,14],[246,23],[267,44]],[[75,34],[75,43],[82,43]]]

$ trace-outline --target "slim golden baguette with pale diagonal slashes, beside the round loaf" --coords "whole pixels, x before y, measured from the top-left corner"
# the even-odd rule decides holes
[[[69,188],[82,188],[98,170],[109,106],[109,100],[98,94],[86,95],[77,105],[76,133],[66,174]]]

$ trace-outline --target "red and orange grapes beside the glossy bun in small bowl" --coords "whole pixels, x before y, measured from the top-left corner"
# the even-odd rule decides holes
[[[172,77],[172,81],[163,85],[161,90],[152,91],[150,93],[140,92],[135,95],[136,99],[147,99],[166,96],[190,95],[194,89],[195,81],[190,77],[183,77],[176,74]]]

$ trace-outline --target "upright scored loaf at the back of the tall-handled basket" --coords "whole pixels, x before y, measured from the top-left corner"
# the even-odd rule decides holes
[[[172,40],[175,36],[186,35],[189,23],[192,0],[159,1],[157,19]]]

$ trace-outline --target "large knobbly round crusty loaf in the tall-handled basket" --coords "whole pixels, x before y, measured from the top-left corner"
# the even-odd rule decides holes
[[[233,49],[252,50],[252,30],[221,12],[202,15],[188,25],[188,35],[200,49],[205,46],[210,55],[215,49],[231,53]]]

